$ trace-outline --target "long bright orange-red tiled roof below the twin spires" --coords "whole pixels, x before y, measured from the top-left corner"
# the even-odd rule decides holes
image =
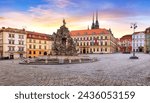
[[[91,29],[91,30],[74,30],[70,32],[71,36],[82,36],[82,35],[99,35],[99,34],[110,34],[109,30],[106,29]]]

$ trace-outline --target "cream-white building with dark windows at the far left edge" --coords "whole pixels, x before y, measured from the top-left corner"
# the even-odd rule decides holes
[[[26,31],[24,29],[0,29],[0,58],[26,57]]]

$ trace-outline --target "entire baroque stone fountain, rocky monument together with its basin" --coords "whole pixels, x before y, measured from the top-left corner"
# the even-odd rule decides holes
[[[66,22],[63,20],[63,25],[53,33],[52,55],[42,56],[32,59],[24,59],[20,64],[28,65],[57,65],[57,64],[77,64],[89,63],[97,61],[96,58],[89,56],[81,56],[77,54],[76,44],[70,36],[70,31],[66,27]]]

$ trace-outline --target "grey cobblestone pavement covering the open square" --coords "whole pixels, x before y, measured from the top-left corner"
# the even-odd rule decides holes
[[[0,85],[19,86],[150,86],[150,55],[93,54],[99,61],[68,65],[20,65],[0,61]]]

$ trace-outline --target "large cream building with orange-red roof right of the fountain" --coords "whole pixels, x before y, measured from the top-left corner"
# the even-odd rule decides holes
[[[80,54],[114,53],[117,51],[117,41],[111,30],[91,29],[70,32]]]

